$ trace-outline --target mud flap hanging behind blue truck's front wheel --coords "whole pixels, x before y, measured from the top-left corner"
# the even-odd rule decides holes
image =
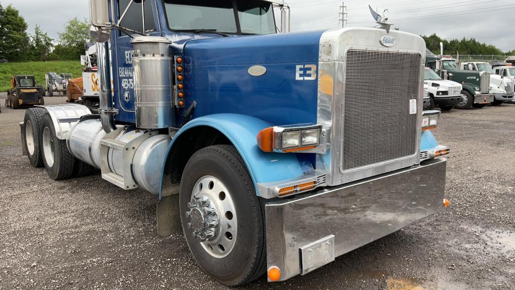
[[[179,195],[161,197],[156,210],[156,221],[160,236],[166,237],[182,233],[179,212]]]

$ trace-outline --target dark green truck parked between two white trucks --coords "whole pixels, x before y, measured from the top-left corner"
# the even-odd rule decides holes
[[[461,84],[462,100],[455,105],[456,108],[483,108],[494,101],[494,95],[490,93],[490,73],[460,70],[456,59],[437,56],[431,51],[426,53],[425,66],[440,73],[443,79]]]

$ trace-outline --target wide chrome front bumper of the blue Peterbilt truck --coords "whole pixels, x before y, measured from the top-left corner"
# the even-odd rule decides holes
[[[279,281],[396,232],[443,208],[445,165],[420,166],[266,204],[268,268]]]

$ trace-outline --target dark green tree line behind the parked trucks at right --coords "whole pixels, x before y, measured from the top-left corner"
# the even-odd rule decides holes
[[[479,42],[474,38],[461,40],[443,39],[436,34],[422,36],[425,40],[427,49],[435,54],[440,54],[440,42],[443,43],[443,54],[451,55],[458,52],[460,55],[515,55],[515,50],[503,52],[494,45]]]

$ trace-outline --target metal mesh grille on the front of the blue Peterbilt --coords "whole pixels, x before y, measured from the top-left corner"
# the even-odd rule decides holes
[[[342,170],[414,155],[420,55],[349,50],[346,62]]]

